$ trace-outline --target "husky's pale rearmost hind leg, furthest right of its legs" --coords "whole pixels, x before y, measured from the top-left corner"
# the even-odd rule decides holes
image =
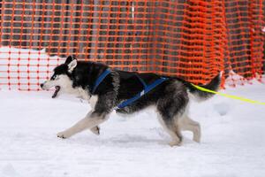
[[[188,130],[193,132],[194,142],[201,142],[201,126],[198,122],[190,119],[187,115],[184,115],[179,122],[181,130]]]

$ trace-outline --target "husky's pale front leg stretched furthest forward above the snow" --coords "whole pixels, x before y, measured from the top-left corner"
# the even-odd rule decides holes
[[[79,120],[74,126],[57,134],[60,138],[69,138],[85,129],[97,127],[107,120],[107,114],[101,112],[89,112],[84,119]]]

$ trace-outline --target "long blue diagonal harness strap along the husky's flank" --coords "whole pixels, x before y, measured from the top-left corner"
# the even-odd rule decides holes
[[[163,81],[167,81],[168,79],[169,78],[163,78],[162,77],[162,78],[160,78],[158,80],[155,80],[153,83],[151,83],[147,87],[145,87],[145,89],[143,89],[136,96],[133,96],[132,98],[125,100],[121,104],[118,104],[117,107],[114,108],[114,109],[115,110],[122,109],[122,108],[126,107],[129,104],[133,104],[133,102],[135,102],[136,100],[138,100],[141,96],[147,94],[150,90],[154,89],[156,86],[158,86],[159,84],[161,84]]]

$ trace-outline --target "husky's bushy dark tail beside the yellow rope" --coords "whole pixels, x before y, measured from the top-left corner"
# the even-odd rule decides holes
[[[201,88],[204,88],[204,89],[210,89],[210,90],[213,90],[213,91],[217,91],[220,88],[220,85],[221,85],[222,75],[223,75],[223,72],[220,72],[208,84],[206,84],[206,85],[199,85],[199,86]],[[204,101],[204,100],[207,100],[208,98],[210,98],[210,97],[212,97],[212,96],[215,95],[213,93],[209,93],[209,92],[206,92],[206,91],[202,91],[200,89],[197,89],[191,83],[186,82],[185,85],[186,85],[189,93],[191,93],[191,95],[194,96],[195,97],[195,100],[197,100],[197,101]]]

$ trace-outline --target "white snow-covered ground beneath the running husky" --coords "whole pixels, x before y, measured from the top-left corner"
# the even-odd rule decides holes
[[[265,102],[264,90],[254,82],[222,92]],[[152,110],[130,118],[113,112],[100,136],[87,130],[59,139],[57,132],[90,108],[72,96],[50,96],[0,91],[1,177],[265,176],[264,105],[222,96],[193,103],[190,113],[201,123],[201,143],[185,132],[183,145],[172,148]]]

